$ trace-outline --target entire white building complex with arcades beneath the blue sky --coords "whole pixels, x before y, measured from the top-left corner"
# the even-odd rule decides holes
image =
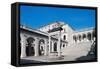
[[[50,23],[39,29],[20,26],[20,57],[59,57],[62,55],[68,55],[67,53],[70,53],[68,49],[71,48],[73,50],[75,46],[81,46],[78,45],[81,43],[90,43],[91,46],[94,40],[95,30],[93,27],[76,31],[64,22]],[[71,52],[73,53],[74,50]]]

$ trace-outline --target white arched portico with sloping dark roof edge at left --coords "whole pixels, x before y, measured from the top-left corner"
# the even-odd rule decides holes
[[[61,32],[58,31],[57,38],[52,34],[42,33],[40,31],[21,29],[21,57],[28,56],[49,56],[51,53],[57,52],[61,55]],[[53,34],[54,35],[54,34]]]

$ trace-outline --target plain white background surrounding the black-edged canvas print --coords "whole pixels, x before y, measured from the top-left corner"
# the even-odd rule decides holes
[[[10,24],[11,24],[11,6],[10,4],[16,1],[66,4],[66,5],[83,5],[83,6],[98,6],[98,19],[100,19],[100,0],[1,0],[0,1],[0,69],[17,69],[10,65]],[[98,20],[99,21],[99,20]],[[100,22],[100,21],[99,21]],[[98,26],[100,26],[98,22]],[[100,27],[98,27],[100,30]],[[98,32],[100,35],[100,32]],[[98,36],[100,38],[100,36]],[[98,39],[100,40],[100,39]],[[98,49],[100,43],[98,43]],[[98,50],[100,53],[100,50]],[[99,54],[100,61],[100,54]],[[18,69],[99,69],[100,62],[94,63],[77,63],[77,64],[62,64],[62,65],[47,65],[47,66],[31,66],[20,67]]]

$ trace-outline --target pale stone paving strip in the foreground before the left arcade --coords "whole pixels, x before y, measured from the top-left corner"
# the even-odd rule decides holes
[[[74,56],[61,56],[61,57],[49,57],[49,56],[40,56],[40,57],[27,57],[23,58],[26,60],[35,60],[35,61],[42,61],[42,62],[59,62],[59,61],[75,61],[76,58]]]

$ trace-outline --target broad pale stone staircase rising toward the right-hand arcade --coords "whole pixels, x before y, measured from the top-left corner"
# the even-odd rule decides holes
[[[70,46],[62,49],[62,55],[73,56],[74,58],[86,56],[91,49],[91,45],[91,42],[80,42],[71,44]]]

